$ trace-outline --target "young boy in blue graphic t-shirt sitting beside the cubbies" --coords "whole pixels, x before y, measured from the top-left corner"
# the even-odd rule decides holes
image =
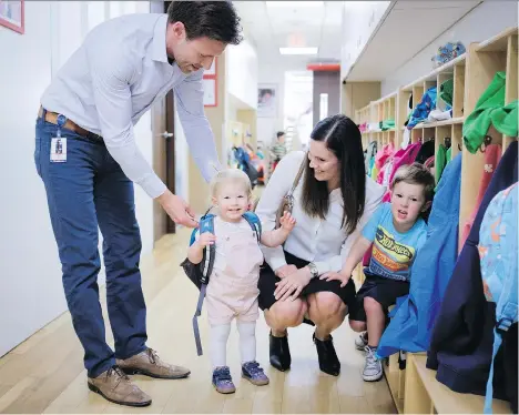
[[[340,280],[343,286],[373,243],[366,280],[349,311],[349,325],[364,332],[355,342],[366,351],[363,377],[367,382],[383,376],[376,357],[378,342],[386,326],[388,307],[409,293],[410,269],[425,243],[427,224],[420,217],[432,200],[435,178],[421,164],[403,165],[391,183],[391,202],[383,203],[356,241],[339,274],[322,279]],[[366,324],[367,323],[367,324]]]

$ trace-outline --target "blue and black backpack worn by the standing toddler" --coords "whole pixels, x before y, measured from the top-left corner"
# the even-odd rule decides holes
[[[200,227],[193,230],[193,232],[191,233],[190,246],[193,245],[193,243],[195,242],[197,232],[200,232],[200,234],[204,232],[214,234],[214,214],[210,214],[207,212],[201,217]],[[254,212],[245,212],[243,214],[243,219],[245,219],[248,222],[252,230],[256,234],[257,243],[260,243],[262,239],[262,222],[260,221],[260,217],[257,216],[257,214],[255,214]],[[200,290],[199,302],[196,304],[196,311],[193,316],[193,332],[194,332],[194,337],[195,337],[195,343],[196,343],[196,352],[199,356],[202,356],[202,342],[200,340],[197,317],[202,314],[202,305],[204,303],[208,280],[210,280],[211,273],[213,272],[215,255],[216,255],[215,245],[214,244],[208,245],[208,246],[205,246],[204,254],[200,264],[193,264],[189,259],[185,259],[181,264],[187,277]]]

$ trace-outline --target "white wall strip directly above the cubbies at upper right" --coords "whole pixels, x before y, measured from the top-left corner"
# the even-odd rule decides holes
[[[438,47],[449,41],[461,41],[466,48],[471,42],[480,42],[502,30],[518,24],[518,3],[516,1],[485,1],[459,20],[451,29],[417,53],[411,60],[398,68],[394,75],[381,82],[381,95],[398,87],[413,82],[416,78],[431,71],[430,58]]]

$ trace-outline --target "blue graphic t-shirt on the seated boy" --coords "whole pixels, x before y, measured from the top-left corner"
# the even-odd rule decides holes
[[[373,242],[372,274],[409,281],[413,261],[427,237],[427,224],[419,217],[409,231],[400,233],[393,225],[390,203],[383,203],[364,226],[363,236]]]

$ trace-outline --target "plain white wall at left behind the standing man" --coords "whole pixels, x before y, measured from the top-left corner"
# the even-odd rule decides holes
[[[0,27],[0,356],[67,310],[43,183],[34,168],[40,97],[89,28],[110,12],[147,12],[149,2],[26,2],[26,33]],[[135,129],[152,160],[151,119]],[[153,245],[152,202],[135,191],[143,253]]]

